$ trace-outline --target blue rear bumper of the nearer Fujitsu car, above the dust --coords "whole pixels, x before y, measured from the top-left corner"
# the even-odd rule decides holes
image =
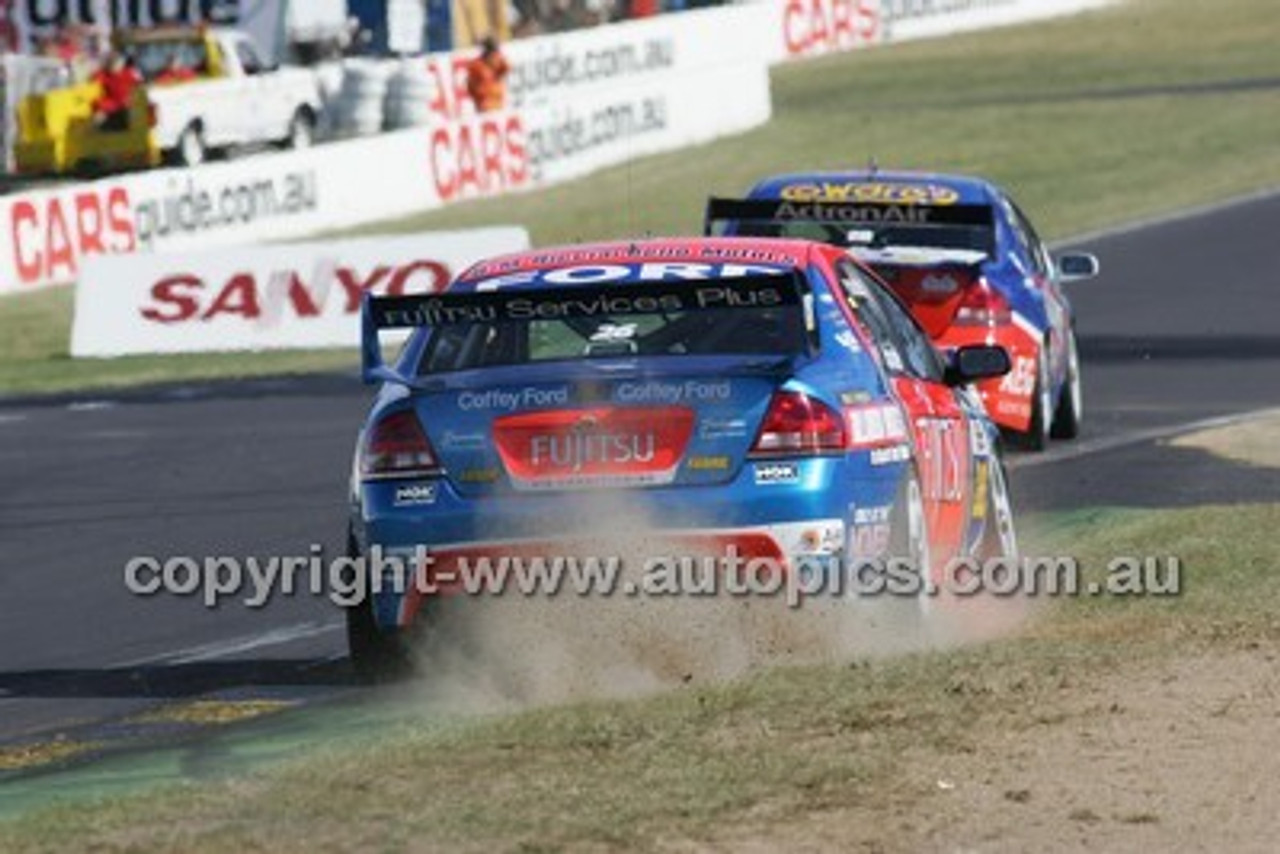
[[[402,577],[375,589],[378,622],[384,629],[407,626],[425,597],[465,589],[463,557],[618,557],[634,580],[653,557],[732,553],[787,566],[801,557],[846,552],[878,556],[877,544],[888,542],[890,513],[908,463],[872,466],[867,455],[851,455],[786,465],[795,466],[794,481],[758,484],[755,463],[749,462],[721,485],[486,498],[461,497],[444,479],[364,484],[353,517],[361,551],[369,554],[378,545],[402,561],[401,572],[407,567],[413,576],[412,583]],[[397,504],[397,497],[410,495],[422,503]],[[417,565],[424,554],[430,556],[426,567]],[[371,572],[378,575],[376,568]],[[474,588],[468,592],[489,592]]]

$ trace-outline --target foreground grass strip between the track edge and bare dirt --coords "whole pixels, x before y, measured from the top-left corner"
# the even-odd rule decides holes
[[[756,835],[795,844],[849,809],[870,817],[858,831],[879,840],[868,850],[919,850],[945,789],[937,768],[1082,726],[1107,680],[1188,656],[1280,650],[1277,525],[1280,506],[1042,520],[1038,553],[1075,554],[1091,577],[1112,557],[1178,556],[1183,593],[1065,599],[1014,639],[639,702],[404,713],[248,775],[29,812],[0,822],[0,850],[732,849]]]

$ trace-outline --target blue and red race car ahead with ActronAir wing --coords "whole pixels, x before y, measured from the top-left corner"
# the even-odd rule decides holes
[[[1043,449],[1080,430],[1083,393],[1062,284],[1097,259],[1050,256],[1014,200],[978,178],[911,172],[767,178],[748,198],[712,198],[708,234],[803,237],[849,250],[910,307],[941,348],[1004,346],[1012,370],[979,385],[1016,444]]]

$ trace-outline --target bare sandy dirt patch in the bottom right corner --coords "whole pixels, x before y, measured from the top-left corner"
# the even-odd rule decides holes
[[[1277,653],[1064,679],[1057,697],[984,720],[963,750],[909,750],[900,777],[863,804],[740,825],[710,848],[1275,851]]]

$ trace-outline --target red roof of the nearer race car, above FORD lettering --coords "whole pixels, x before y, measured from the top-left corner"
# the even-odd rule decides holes
[[[449,289],[468,289],[477,280],[513,273],[556,270],[571,266],[640,264],[737,264],[804,268],[820,245],[795,238],[771,237],[676,237],[645,238],[549,246],[512,252],[479,261],[463,270]],[[626,284],[627,280],[618,280]],[[600,282],[593,282],[600,284]],[[504,287],[539,287],[536,280],[515,282]]]

